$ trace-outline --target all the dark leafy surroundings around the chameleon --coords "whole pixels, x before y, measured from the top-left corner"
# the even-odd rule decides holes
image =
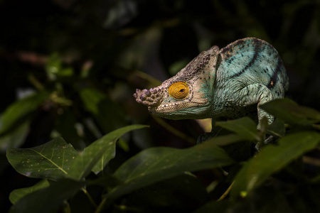
[[[319,10],[304,0],[0,1],[1,211],[320,211]],[[274,45],[290,78],[290,99],[263,106],[271,126],[218,121],[217,136],[195,145],[210,121],[159,119],[134,101],[135,88],[200,51],[249,36]]]

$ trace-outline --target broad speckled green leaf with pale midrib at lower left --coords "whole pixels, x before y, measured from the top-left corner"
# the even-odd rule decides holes
[[[33,148],[11,148],[6,157],[14,169],[29,178],[58,180],[68,174],[78,153],[63,138]]]

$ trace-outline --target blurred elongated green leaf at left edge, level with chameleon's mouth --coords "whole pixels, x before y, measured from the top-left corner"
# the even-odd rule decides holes
[[[12,128],[19,119],[23,118],[23,116],[26,116],[26,114],[36,110],[41,104],[43,104],[43,102],[46,101],[46,99],[48,99],[48,97],[48,92],[41,91],[11,104],[11,106],[9,106],[1,116],[0,134],[3,134]]]

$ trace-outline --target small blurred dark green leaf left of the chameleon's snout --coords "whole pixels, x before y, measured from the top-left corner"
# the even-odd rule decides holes
[[[98,104],[106,98],[105,94],[92,88],[82,89],[80,91],[80,97],[85,104],[85,108],[95,115],[99,112]]]

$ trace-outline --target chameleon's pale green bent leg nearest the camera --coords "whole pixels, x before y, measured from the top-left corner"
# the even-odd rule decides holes
[[[235,97],[241,97],[237,99],[237,104],[240,107],[247,107],[252,104],[257,104],[257,129],[260,129],[262,118],[265,116],[269,124],[274,121],[274,116],[268,114],[267,111],[260,109],[261,104],[270,102],[272,98],[272,92],[263,84],[250,84],[249,86],[241,89],[239,92],[235,92]]]

